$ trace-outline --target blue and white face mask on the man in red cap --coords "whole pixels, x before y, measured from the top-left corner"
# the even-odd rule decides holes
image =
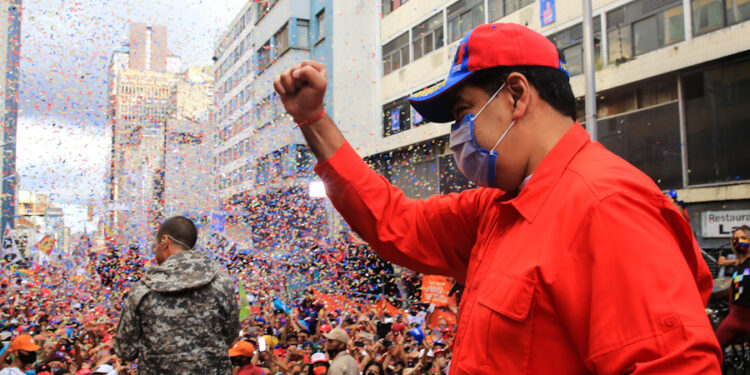
[[[508,129],[505,129],[503,135],[497,140],[492,149],[487,150],[479,147],[474,137],[474,121],[482,111],[492,102],[497,94],[505,87],[505,83],[490,97],[487,103],[477,112],[476,115],[469,113],[461,120],[451,126],[450,148],[453,151],[453,158],[456,159],[458,169],[471,182],[482,187],[497,187],[495,179],[495,168],[497,165],[497,152],[495,149],[508,134],[508,130],[515,125],[516,120],[510,122]]]

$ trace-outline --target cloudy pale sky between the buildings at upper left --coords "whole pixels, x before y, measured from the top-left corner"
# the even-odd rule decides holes
[[[86,205],[101,207],[105,196],[107,66],[129,24],[165,25],[168,48],[183,68],[210,65],[215,40],[248,1],[24,0],[20,188],[49,194],[66,225],[83,231]]]

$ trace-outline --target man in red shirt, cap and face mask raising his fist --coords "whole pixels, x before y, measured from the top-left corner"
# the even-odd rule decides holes
[[[712,280],[690,226],[645,174],[575,121],[544,36],[481,25],[445,83],[410,98],[455,121],[450,147],[480,187],[408,199],[325,116],[325,67],[275,82],[336,209],[386,260],[465,285],[451,374],[719,374]]]

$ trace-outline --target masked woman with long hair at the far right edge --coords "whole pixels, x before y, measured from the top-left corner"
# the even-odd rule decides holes
[[[732,250],[737,265],[730,284],[729,315],[716,329],[721,347],[739,335],[750,336],[750,227],[743,225],[732,232]]]

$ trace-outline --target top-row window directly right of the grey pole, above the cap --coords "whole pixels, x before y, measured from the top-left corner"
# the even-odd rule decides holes
[[[619,64],[635,55],[685,40],[682,3],[640,0],[607,13],[609,61]]]

